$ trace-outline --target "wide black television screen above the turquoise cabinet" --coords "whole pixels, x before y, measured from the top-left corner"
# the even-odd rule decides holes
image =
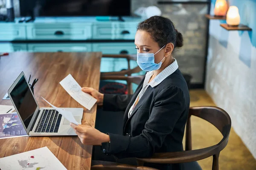
[[[130,0],[20,0],[20,16],[129,16]]]

